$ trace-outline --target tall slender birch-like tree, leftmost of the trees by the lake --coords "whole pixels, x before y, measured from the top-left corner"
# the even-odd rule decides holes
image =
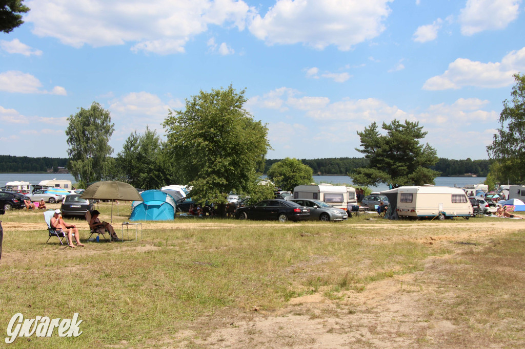
[[[80,108],[67,121],[69,172],[79,186],[106,179],[108,157],[113,152],[108,143],[114,131],[109,111],[93,102],[89,109]]]

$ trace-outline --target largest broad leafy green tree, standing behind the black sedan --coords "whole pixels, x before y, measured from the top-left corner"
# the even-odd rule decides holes
[[[244,109],[245,102],[245,90],[231,85],[201,91],[163,123],[168,154],[197,202],[226,203],[230,191],[249,194],[259,180],[270,149],[268,128]]]

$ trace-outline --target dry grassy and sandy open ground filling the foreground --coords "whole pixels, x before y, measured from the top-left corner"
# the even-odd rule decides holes
[[[119,237],[128,215],[113,206]],[[177,217],[136,243],[69,248],[46,244],[41,212],[0,218],[3,331],[15,313],[82,320],[76,338],[14,347],[525,346],[525,220]],[[87,223],[66,222],[85,242]]]

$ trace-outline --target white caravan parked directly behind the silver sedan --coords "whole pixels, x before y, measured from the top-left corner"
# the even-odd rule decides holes
[[[293,199],[321,200],[346,211],[346,199],[348,198],[346,188],[345,186],[332,186],[332,184],[297,186],[293,188]],[[353,193],[355,198],[355,190]]]

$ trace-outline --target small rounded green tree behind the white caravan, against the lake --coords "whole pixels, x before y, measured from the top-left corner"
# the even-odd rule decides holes
[[[313,182],[313,170],[296,158],[275,162],[268,170],[268,178],[282,190],[292,191],[297,186]]]

